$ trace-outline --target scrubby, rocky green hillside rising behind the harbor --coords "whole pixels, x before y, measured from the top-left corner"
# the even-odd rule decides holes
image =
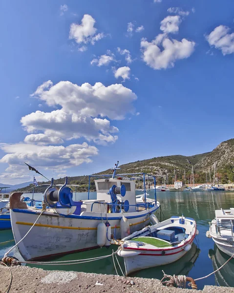
[[[204,183],[206,182],[206,172],[209,172],[209,168],[211,170],[211,178],[213,181],[214,163],[216,164],[218,183],[225,184],[234,182],[234,139],[222,142],[220,145],[215,147],[213,151],[203,154],[189,157],[182,155],[154,157],[148,160],[124,164],[120,166],[121,170],[119,170],[119,173],[146,172],[156,176],[157,184],[172,184],[174,181],[173,173],[175,169],[176,179],[184,181],[185,172],[186,182],[188,183],[188,180],[191,178],[191,167],[193,166],[195,183]],[[97,174],[111,173],[112,171],[107,169]],[[55,180],[55,184],[63,183],[64,178]],[[88,176],[68,177],[68,183],[81,185],[77,191],[85,191],[87,189]],[[91,183],[92,188],[94,189],[93,182]],[[29,186],[19,190],[24,191],[28,188]]]

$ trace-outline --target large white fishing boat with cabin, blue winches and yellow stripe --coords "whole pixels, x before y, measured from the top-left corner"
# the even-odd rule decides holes
[[[134,176],[141,177],[146,187],[145,173],[89,175],[87,200],[73,201],[67,177],[61,188],[51,185],[43,195],[43,212],[20,201],[21,193],[10,197],[10,213],[16,243],[25,260],[42,259],[109,246],[113,239],[122,239],[149,224],[149,216],[160,207],[154,199],[136,202]],[[94,179],[95,178],[95,179]],[[156,178],[153,178],[156,183]],[[89,199],[90,184],[94,183],[97,199]],[[45,209],[45,210],[44,210]],[[41,214],[41,215],[40,215]],[[38,219],[40,215],[40,218]],[[38,219],[38,221],[37,221]]]

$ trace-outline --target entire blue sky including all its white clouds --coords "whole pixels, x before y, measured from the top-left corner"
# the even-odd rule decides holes
[[[233,138],[234,2],[1,1],[0,182]],[[41,180],[38,177],[38,180]]]

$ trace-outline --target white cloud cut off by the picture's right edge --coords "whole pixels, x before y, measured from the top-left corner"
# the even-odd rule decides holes
[[[234,33],[229,34],[230,30],[228,26],[219,25],[206,36],[210,46],[221,50],[224,56],[234,53]]]

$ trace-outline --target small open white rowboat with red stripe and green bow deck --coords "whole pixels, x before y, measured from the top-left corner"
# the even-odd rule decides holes
[[[196,222],[183,215],[163,222],[151,215],[150,220],[155,224],[121,240],[118,255],[124,258],[126,275],[178,260],[190,251],[198,234]]]

